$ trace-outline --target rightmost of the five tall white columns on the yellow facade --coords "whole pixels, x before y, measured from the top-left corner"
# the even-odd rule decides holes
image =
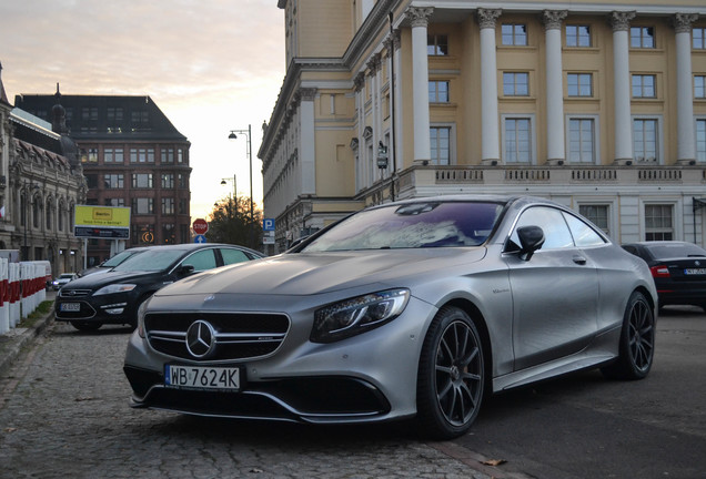
[[[692,80],[692,23],[695,13],[677,13],[673,19],[676,31],[677,69],[677,162],[689,164],[696,161],[696,136],[694,132],[694,85]]]

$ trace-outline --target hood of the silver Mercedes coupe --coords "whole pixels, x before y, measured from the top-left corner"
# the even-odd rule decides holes
[[[404,286],[413,276],[475,263],[485,247],[291,253],[240,263],[174,283],[158,296],[189,294],[312,295],[379,283]]]

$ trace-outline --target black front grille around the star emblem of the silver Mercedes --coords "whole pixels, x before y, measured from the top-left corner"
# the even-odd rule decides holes
[[[208,360],[243,360],[274,353],[286,336],[290,320],[281,314],[150,313],[144,329],[150,346],[169,356],[196,359],[186,348],[186,330],[196,320],[215,330],[215,348]]]

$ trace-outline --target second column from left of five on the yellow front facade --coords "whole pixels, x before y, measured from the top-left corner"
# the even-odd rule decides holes
[[[495,57],[495,21],[501,9],[478,9],[481,27],[481,161],[500,161],[500,115],[497,109],[497,59]]]

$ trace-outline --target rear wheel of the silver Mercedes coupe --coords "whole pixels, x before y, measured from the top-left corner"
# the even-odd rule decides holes
[[[623,316],[619,353],[615,363],[601,369],[615,379],[643,379],[655,355],[655,315],[645,295],[634,292]]]

